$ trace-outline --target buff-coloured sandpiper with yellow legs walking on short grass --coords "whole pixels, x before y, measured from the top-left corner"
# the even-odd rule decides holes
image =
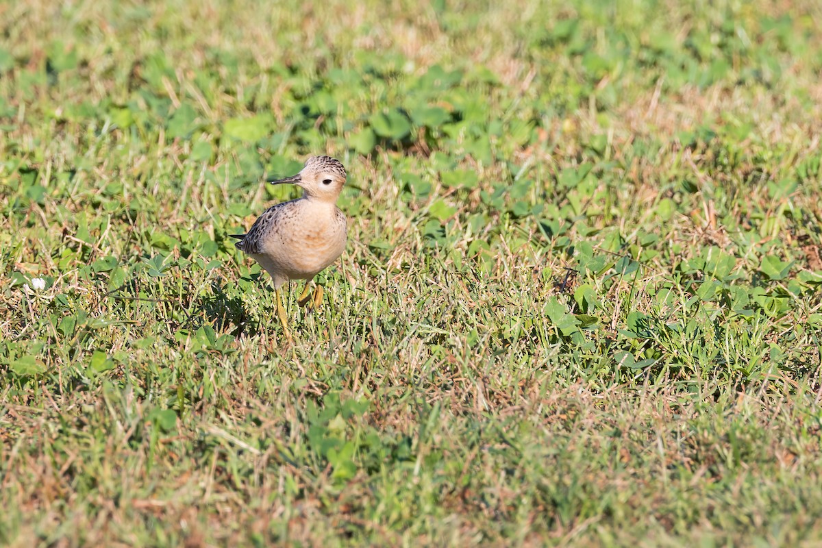
[[[234,246],[252,256],[274,281],[277,315],[284,334],[291,338],[289,321],[280,300],[280,288],[289,280],[306,280],[298,303],[308,302],[309,284],[321,270],[345,251],[348,223],[337,207],[345,184],[343,164],[330,156],[312,156],[299,173],[284,179],[268,179],[273,185],[293,184],[302,197],[272,205]],[[322,302],[322,286],[316,286],[313,307]]]

